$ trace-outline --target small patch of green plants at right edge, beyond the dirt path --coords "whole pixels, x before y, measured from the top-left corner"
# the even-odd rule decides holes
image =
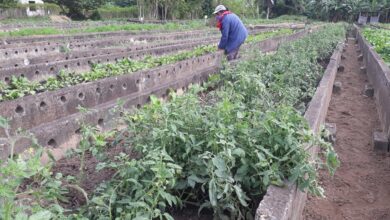
[[[390,29],[365,28],[363,35],[387,65],[390,65]]]

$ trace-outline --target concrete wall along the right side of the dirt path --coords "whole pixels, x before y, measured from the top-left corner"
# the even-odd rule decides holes
[[[360,29],[354,26],[356,39],[363,55],[363,64],[368,79],[374,88],[374,97],[378,109],[382,130],[390,137],[390,68],[374,47],[364,38]]]

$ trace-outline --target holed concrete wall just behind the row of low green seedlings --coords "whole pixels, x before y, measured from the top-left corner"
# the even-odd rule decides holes
[[[266,33],[263,33],[266,32]],[[279,29],[275,31],[270,30],[258,30],[251,31],[252,35],[258,37],[251,37],[251,41],[256,41],[258,38],[265,36],[276,36],[278,34],[290,33],[291,29]],[[257,35],[259,34],[259,35]],[[116,41],[117,46],[109,48],[98,48],[99,46],[112,45],[115,39],[105,40],[100,43],[86,44],[85,46],[94,47],[94,49],[81,49],[66,48],[63,52],[49,52],[42,56],[29,57],[26,53],[17,55],[14,59],[6,59],[0,62],[0,65],[4,68],[0,68],[0,75],[4,81],[9,82],[12,76],[25,76],[31,80],[42,80],[49,75],[56,75],[62,69],[86,71],[89,70],[91,65],[100,63],[112,63],[121,59],[141,59],[145,55],[161,55],[167,53],[175,53],[180,50],[191,49],[194,46],[209,45],[218,41],[218,37],[215,34],[209,33],[197,33],[188,36],[188,33],[184,35],[172,35],[173,39],[166,36],[167,41],[151,41],[148,42],[145,39],[143,41],[134,41],[124,39],[123,42]],[[183,39],[182,39],[183,38]],[[107,42],[107,43],[104,43]],[[119,44],[121,47],[119,47]],[[132,46],[126,47],[126,44]],[[60,47],[61,48],[61,47]],[[54,47],[53,47],[54,49]],[[19,49],[25,50],[23,48]],[[8,53],[9,54],[9,53]],[[35,74],[34,74],[35,73]]]

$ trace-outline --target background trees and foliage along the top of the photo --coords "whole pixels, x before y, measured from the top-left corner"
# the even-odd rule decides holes
[[[0,8],[15,7],[17,0],[0,0]],[[380,13],[390,18],[390,0],[46,0],[59,5],[72,18],[199,19],[212,16],[224,4],[246,18],[303,15],[326,21],[353,21],[359,13]]]

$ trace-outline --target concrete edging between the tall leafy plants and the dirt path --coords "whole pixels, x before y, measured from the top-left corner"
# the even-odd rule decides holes
[[[324,124],[333,84],[341,60],[342,48],[334,51],[325,73],[314,94],[305,118],[314,133],[318,133]],[[317,148],[310,149],[311,159],[315,159]],[[299,220],[305,207],[307,194],[297,188],[296,184],[286,182],[286,187],[269,186],[257,211],[256,220]]]

